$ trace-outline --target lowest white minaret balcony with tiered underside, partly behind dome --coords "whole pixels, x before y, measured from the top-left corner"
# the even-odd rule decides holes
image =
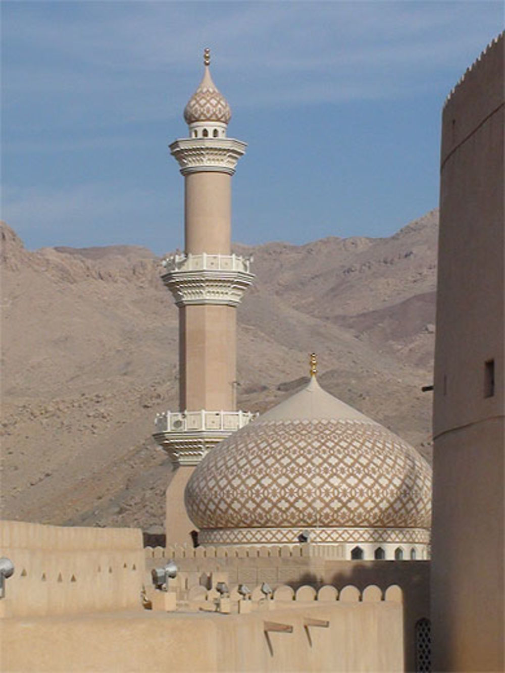
[[[177,465],[197,465],[220,441],[250,423],[248,411],[165,411],[156,415],[154,439]]]

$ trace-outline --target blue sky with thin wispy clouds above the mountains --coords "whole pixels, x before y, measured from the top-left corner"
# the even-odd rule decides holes
[[[444,98],[503,23],[501,0],[4,0],[3,219],[30,249],[182,247],[167,146],[209,46],[248,143],[234,240],[389,236],[436,207]]]

